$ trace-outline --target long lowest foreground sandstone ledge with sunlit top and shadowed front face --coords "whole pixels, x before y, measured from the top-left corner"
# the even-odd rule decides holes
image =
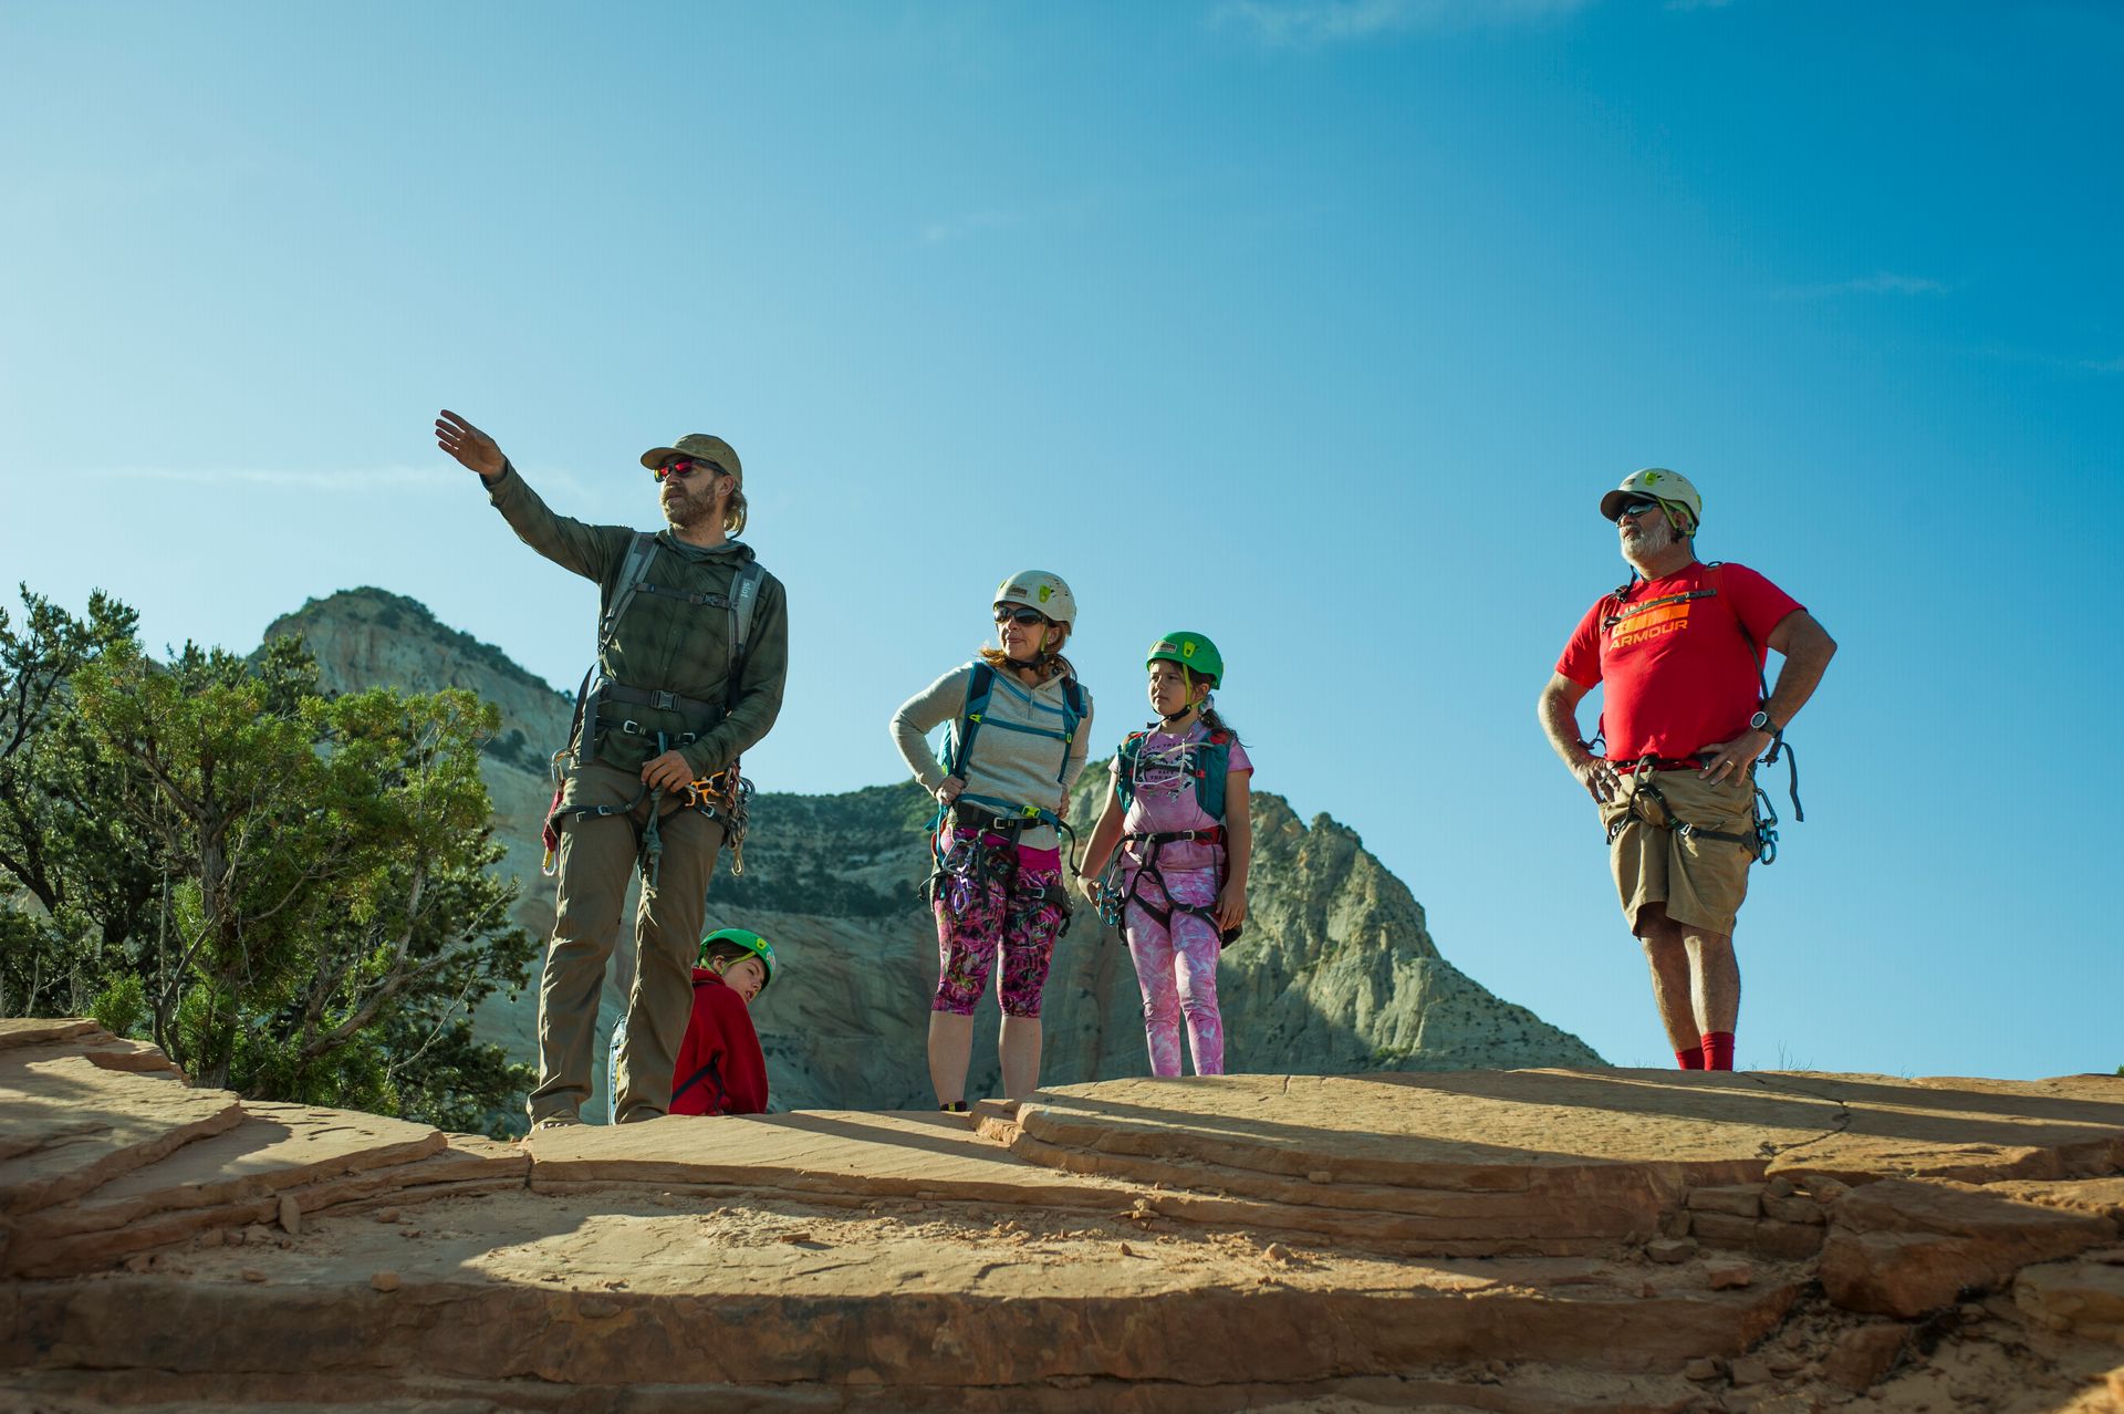
[[[1676,1372],[1740,1355],[1799,1282],[1710,1293],[1595,1261],[1389,1259],[1117,1219],[794,1200],[514,1193],[442,1204],[423,1240],[316,1217],[293,1251],[21,1282],[0,1367],[780,1386],[1308,1382],[1461,1361]],[[1000,1219],[1000,1221],[998,1221]],[[788,1240],[790,1236],[799,1240]],[[249,1282],[244,1272],[266,1280]],[[372,1278],[395,1274],[380,1293]],[[733,1329],[743,1340],[729,1340]],[[1291,1340],[1289,1331],[1315,1338]],[[869,1372],[869,1376],[864,1376]]]

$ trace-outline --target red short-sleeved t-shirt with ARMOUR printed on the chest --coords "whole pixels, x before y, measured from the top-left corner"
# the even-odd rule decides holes
[[[1746,565],[1691,563],[1587,609],[1557,671],[1580,688],[1608,684],[1610,760],[1693,756],[1748,730],[1769,631],[1799,607]]]

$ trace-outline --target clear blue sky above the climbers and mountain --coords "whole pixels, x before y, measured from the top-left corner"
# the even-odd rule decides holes
[[[0,580],[232,648],[378,584],[573,686],[595,590],[435,408],[607,522],[716,431],[763,786],[894,779],[1051,567],[1102,747],[1211,633],[1257,788],[1663,1064],[1534,696],[1669,465],[1842,643],[1742,1064],[2109,1070],[2120,66],[2099,2],[0,0]]]

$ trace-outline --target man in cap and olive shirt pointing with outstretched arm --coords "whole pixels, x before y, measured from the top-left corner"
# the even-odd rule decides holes
[[[671,1106],[707,883],[724,843],[722,820],[684,798],[775,724],[788,671],[782,582],[748,571],[752,548],[731,539],[746,527],[746,493],[743,467],[722,437],[690,433],[641,454],[669,522],[654,544],[627,527],[546,510],[495,439],[455,412],[435,418],[435,442],[480,473],[527,546],[595,580],[603,601],[597,665],[578,699],[554,811],[561,887],[539,979],[531,1125],[580,1123],[597,996],[637,862],[635,983],[612,1108],[620,1123],[654,1119]]]

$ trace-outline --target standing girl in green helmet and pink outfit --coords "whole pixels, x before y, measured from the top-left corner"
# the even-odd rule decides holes
[[[1211,705],[1211,688],[1223,679],[1215,643],[1168,633],[1151,645],[1145,669],[1160,720],[1115,754],[1113,790],[1079,881],[1128,938],[1151,1074],[1181,1072],[1181,1019],[1196,1074],[1223,1074],[1217,953],[1247,919],[1253,762]],[[1111,877],[1098,879],[1109,862]]]

